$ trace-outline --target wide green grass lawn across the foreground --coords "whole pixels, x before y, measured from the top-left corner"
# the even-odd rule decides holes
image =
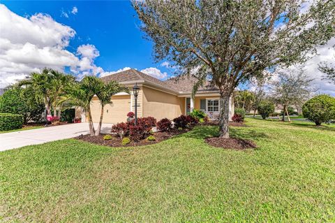
[[[335,222],[335,128],[247,119],[139,148],[64,140],[0,152],[0,222]]]

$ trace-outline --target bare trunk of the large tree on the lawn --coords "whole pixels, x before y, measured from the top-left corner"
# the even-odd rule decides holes
[[[219,131],[220,138],[229,138],[229,99],[230,95],[221,94],[220,95],[220,120],[219,120]]]

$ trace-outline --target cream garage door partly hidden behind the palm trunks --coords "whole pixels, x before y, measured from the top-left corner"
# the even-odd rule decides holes
[[[127,113],[131,109],[131,96],[112,96],[112,103],[105,106],[103,110],[103,123],[126,122]],[[101,103],[96,96],[91,102],[91,115],[93,122],[99,122],[101,115]]]

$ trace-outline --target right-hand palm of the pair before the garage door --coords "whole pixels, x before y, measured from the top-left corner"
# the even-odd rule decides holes
[[[99,79],[100,80],[100,79]],[[101,103],[101,115],[100,120],[98,124],[98,128],[96,129],[96,136],[98,136],[101,132],[101,124],[103,122],[103,108],[111,103],[111,98],[114,94],[117,94],[119,92],[129,92],[128,87],[125,87],[123,85],[119,85],[118,82],[111,80],[110,82],[107,82],[103,85],[101,85],[101,89],[99,92],[97,92],[96,96],[98,96],[98,99]]]

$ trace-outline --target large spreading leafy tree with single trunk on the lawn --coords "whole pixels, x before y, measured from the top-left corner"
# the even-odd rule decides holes
[[[220,92],[220,137],[229,138],[229,101],[235,87],[265,69],[304,62],[334,36],[335,1],[133,0],[156,61],[177,75],[208,80]]]

